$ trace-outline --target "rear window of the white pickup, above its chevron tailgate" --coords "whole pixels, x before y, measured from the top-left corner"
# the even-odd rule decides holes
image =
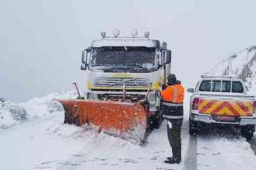
[[[232,86],[231,86],[232,85]],[[232,88],[232,89],[231,89]],[[204,80],[201,82],[199,91],[221,91],[243,93],[243,86],[240,81],[220,81],[220,80]]]

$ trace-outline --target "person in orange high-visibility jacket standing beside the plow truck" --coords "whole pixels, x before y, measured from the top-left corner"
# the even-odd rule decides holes
[[[183,121],[184,88],[181,81],[176,80],[175,74],[167,77],[168,86],[162,85],[162,91],[157,93],[161,98],[163,118],[167,122],[167,134],[171,145],[173,157],[167,157],[167,164],[179,164],[181,162],[181,125]]]

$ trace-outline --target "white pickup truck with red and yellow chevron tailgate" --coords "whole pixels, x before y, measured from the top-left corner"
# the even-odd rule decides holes
[[[190,101],[189,134],[197,135],[207,124],[234,125],[251,140],[256,125],[255,96],[247,94],[242,79],[202,76]],[[205,126],[206,125],[206,126]]]

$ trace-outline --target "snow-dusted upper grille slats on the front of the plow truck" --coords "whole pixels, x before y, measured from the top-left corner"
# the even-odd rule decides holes
[[[95,86],[121,87],[124,83],[127,86],[149,86],[149,79],[146,79],[146,78],[114,78],[114,77],[99,77],[99,78],[95,79]]]

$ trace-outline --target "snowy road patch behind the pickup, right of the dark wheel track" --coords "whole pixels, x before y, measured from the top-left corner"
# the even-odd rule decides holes
[[[198,169],[256,169],[256,141],[246,142],[239,131],[215,129],[198,136]]]

